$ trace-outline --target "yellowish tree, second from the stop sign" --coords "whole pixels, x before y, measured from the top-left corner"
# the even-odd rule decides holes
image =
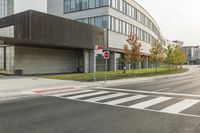
[[[164,58],[164,49],[162,47],[162,44],[158,41],[155,40],[151,44],[151,49],[149,50],[150,52],[150,60],[155,63],[155,72],[158,70],[158,62],[160,62]]]

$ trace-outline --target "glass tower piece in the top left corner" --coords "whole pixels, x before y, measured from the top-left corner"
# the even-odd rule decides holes
[[[14,13],[14,0],[0,0],[0,18]]]

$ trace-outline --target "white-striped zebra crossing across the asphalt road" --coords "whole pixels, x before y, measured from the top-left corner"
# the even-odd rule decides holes
[[[173,100],[176,97],[132,94],[132,93],[98,90],[98,89],[79,90],[73,92],[54,94],[52,96],[70,100],[96,103],[96,104],[104,104],[110,106],[125,107],[130,109],[140,109],[140,110],[154,111],[160,113],[169,113],[169,114],[178,114],[187,116],[195,116],[193,114],[183,113],[183,112],[200,102],[199,99],[180,99],[179,101],[167,104],[166,107],[163,107],[162,109],[158,110],[154,109],[154,106],[170,102],[170,100]],[[195,116],[195,117],[200,117],[200,116]]]

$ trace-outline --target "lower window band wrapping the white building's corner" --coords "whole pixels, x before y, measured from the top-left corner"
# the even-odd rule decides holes
[[[124,35],[133,33],[136,34],[141,41],[149,44],[155,40],[155,38],[146,31],[112,16],[97,16],[78,19],[77,21],[98,26],[100,28],[106,28]]]

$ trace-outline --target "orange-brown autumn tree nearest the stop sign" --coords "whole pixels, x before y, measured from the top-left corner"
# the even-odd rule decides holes
[[[141,43],[136,35],[130,34],[126,40],[128,45],[124,46],[124,59],[125,63],[132,64],[133,74],[135,74],[135,66],[142,60]]]

